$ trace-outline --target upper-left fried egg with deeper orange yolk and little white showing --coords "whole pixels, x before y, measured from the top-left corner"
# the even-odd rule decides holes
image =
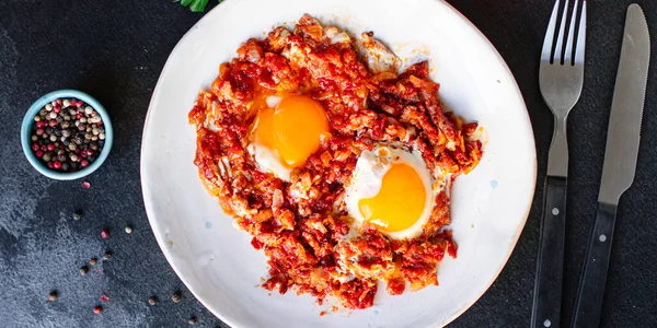
[[[290,172],[306,163],[331,136],[322,104],[310,96],[269,96],[252,130],[249,151],[258,168],[290,180]]]

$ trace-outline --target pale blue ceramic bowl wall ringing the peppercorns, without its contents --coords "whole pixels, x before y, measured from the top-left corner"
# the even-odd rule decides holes
[[[80,171],[68,173],[50,169],[36,157],[31,148],[32,141],[30,140],[30,137],[32,136],[34,117],[44,106],[46,106],[46,104],[51,103],[57,98],[76,98],[84,102],[101,115],[103,125],[105,126],[105,144],[103,145],[103,151],[95,161]],[[99,103],[99,101],[96,101],[94,97],[77,90],[59,90],[50,92],[38,98],[38,101],[36,101],[32,107],[30,107],[27,113],[25,113],[23,126],[21,127],[21,144],[23,145],[23,152],[25,153],[27,161],[30,161],[30,164],[32,164],[32,166],[34,166],[34,168],[36,168],[36,171],[38,171],[41,174],[57,180],[73,180],[90,175],[96,171],[101,165],[103,165],[105,159],[107,159],[113,141],[114,130],[112,129],[112,121],[110,120],[110,116],[107,115],[105,107],[103,107],[103,105],[101,105],[101,103]]]

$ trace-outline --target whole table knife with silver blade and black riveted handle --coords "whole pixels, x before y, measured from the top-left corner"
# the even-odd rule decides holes
[[[621,195],[632,185],[636,171],[649,58],[648,25],[643,10],[634,3],[627,8],[625,17],[598,213],[579,281],[573,327],[598,327],[600,323],[616,207]]]

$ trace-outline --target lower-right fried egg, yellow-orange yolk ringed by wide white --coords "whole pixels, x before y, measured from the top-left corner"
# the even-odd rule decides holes
[[[394,239],[420,234],[434,206],[433,178],[419,152],[389,147],[364,151],[346,187],[355,222],[369,222]]]

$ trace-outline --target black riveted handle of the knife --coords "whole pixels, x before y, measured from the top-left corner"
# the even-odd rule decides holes
[[[615,213],[616,206],[598,203],[598,215],[586,251],[586,262],[577,291],[573,327],[597,328],[600,326]]]

